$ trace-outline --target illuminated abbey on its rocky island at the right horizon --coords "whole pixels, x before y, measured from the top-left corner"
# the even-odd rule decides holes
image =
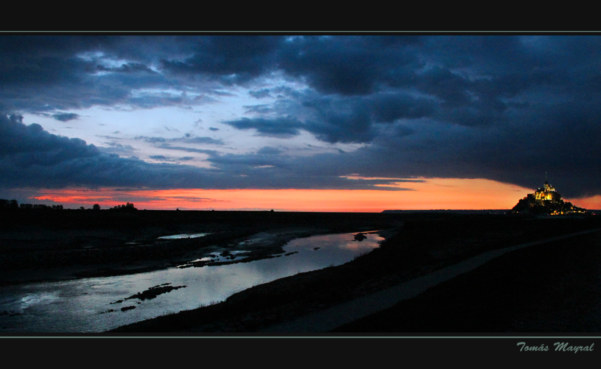
[[[538,188],[534,193],[529,193],[510,210],[510,214],[525,215],[568,215],[575,213],[587,214],[587,209],[578,208],[570,202],[564,202],[560,193],[547,181],[545,181],[543,188]]]

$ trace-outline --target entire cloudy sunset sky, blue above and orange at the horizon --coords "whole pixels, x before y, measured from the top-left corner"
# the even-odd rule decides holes
[[[0,198],[601,208],[601,38],[0,35]]]

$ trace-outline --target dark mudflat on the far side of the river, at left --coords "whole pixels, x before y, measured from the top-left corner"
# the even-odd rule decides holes
[[[17,209],[0,212],[0,284],[136,274],[239,250],[258,260],[294,238],[398,222],[369,213]],[[162,238],[188,233],[207,234]]]

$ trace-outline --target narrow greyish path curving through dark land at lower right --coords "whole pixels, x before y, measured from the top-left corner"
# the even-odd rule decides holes
[[[353,322],[362,317],[369,316],[386,308],[393,307],[398,302],[413,298],[425,292],[430,287],[448,281],[457,275],[472,271],[486,262],[489,262],[502,254],[514,250],[520,250],[532,245],[545,244],[547,242],[559,241],[587,233],[599,232],[601,228],[571,233],[569,235],[543,239],[542,241],[528,242],[499,250],[487,251],[478,256],[471,257],[463,262],[448,266],[422,277],[398,284],[380,292],[362,296],[344,304],[336,305],[318,313],[310,314],[290,322],[268,326],[260,332],[328,332],[338,326]]]

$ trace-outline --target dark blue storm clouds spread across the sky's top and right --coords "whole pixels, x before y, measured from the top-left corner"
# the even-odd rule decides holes
[[[279,162],[260,152],[206,152],[234,187],[263,183],[252,175],[260,169],[248,169],[244,179],[228,172],[248,160],[279,165],[269,169],[274,186],[307,185],[302,177],[315,168],[341,188],[351,182],[335,176],[348,173],[489,178],[535,188],[549,172],[563,194],[584,196],[601,194],[600,71],[601,39],[579,35],[3,36],[0,110],[51,116],[97,105],[188,106],[231,95],[228,86],[237,85],[262,104],[225,122],[231,127],[280,138],[307,131],[324,142],[367,146],[302,160],[271,155]],[[293,83],[268,85],[273,76]],[[186,95],[189,89],[203,95]],[[179,140],[190,139],[209,137]],[[215,141],[198,143],[222,145]],[[195,150],[166,139],[151,143]]]

